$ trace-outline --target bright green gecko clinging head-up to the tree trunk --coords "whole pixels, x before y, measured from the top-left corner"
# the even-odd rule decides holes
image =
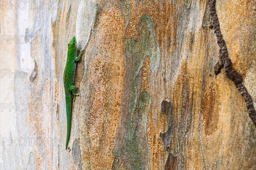
[[[66,95],[66,111],[67,111],[67,140],[66,150],[68,141],[70,139],[71,129],[71,114],[72,114],[72,98],[76,94],[76,86],[74,86],[75,74],[76,74],[76,62],[80,61],[81,56],[84,54],[84,49],[77,56],[76,37],[73,37],[67,44],[67,63],[64,70],[64,89]]]

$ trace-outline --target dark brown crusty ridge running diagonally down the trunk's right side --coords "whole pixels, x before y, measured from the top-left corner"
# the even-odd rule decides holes
[[[226,42],[222,37],[220,23],[218,21],[218,15],[216,13],[216,7],[215,7],[216,0],[208,0],[208,3],[209,3],[210,14],[211,14],[212,26],[214,29],[214,33],[217,37],[218,46],[220,47],[218,63],[220,62],[223,63],[226,77],[234,82],[234,84],[236,85],[236,88],[239,90],[239,92],[243,96],[247,110],[249,112],[249,117],[252,119],[253,124],[256,126],[256,111],[253,106],[253,100],[249,92],[247,91],[246,87],[242,83],[243,78],[235,69],[232,68],[231,66],[232,62],[228,57]],[[219,64],[219,65],[222,66],[222,64]],[[220,66],[217,66],[217,68],[219,68]],[[216,69],[215,73],[218,74],[218,72],[219,72],[218,69]]]

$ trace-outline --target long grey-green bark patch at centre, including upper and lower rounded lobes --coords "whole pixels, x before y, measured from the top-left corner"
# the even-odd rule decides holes
[[[122,112],[125,112],[122,124],[126,126],[125,130],[121,132],[124,136],[124,139],[121,140],[122,147],[116,148],[117,153],[115,155],[120,155],[120,161],[125,168],[147,170],[149,151],[146,138],[146,121],[151,106],[148,92],[139,92],[138,123],[135,129],[133,127],[133,115],[138,98],[135,77],[143,66],[145,56],[149,56],[151,72],[155,71],[160,60],[160,50],[154,34],[153,20],[147,15],[143,15],[139,21],[137,40],[124,39],[124,43],[126,80],[123,93],[128,94],[124,98],[129,102],[122,108]]]

